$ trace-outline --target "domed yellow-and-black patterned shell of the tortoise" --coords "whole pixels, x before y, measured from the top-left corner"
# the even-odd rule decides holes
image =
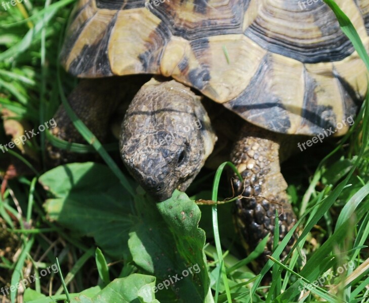
[[[369,47],[369,0],[336,2]],[[364,64],[322,0],[79,0],[61,58],[78,77],[173,77],[289,134],[335,129],[367,89]]]

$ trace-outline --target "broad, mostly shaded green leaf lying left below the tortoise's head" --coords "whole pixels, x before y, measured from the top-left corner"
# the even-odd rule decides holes
[[[105,254],[127,258],[128,233],[134,223],[132,200],[106,166],[91,162],[58,166],[39,181],[54,195],[45,204],[50,219],[94,237]]]

